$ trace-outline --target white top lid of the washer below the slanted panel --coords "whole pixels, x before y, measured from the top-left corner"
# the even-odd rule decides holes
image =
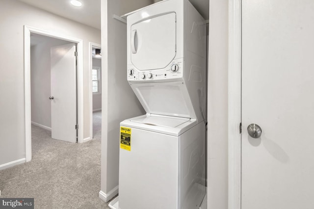
[[[140,118],[131,118],[130,121],[142,123],[151,126],[161,126],[168,128],[175,128],[179,125],[189,121],[189,118],[174,118],[174,117],[164,117],[164,116],[149,116],[146,115]]]

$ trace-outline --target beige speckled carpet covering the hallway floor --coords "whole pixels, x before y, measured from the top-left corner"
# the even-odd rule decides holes
[[[51,138],[32,126],[32,160],[0,171],[1,198],[34,198],[35,209],[109,209],[101,185],[101,112],[94,139],[83,144]]]

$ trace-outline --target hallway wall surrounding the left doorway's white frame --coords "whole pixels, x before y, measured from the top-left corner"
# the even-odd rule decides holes
[[[24,25],[83,40],[84,138],[89,134],[89,42],[100,30],[17,0],[0,1],[0,165],[26,157],[24,112]]]

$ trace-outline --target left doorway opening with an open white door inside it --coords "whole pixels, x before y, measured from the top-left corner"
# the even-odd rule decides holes
[[[31,123],[77,142],[76,43],[30,34]]]

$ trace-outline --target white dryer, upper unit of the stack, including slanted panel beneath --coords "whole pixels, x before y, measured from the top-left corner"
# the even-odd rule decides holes
[[[127,17],[127,79],[147,113],[206,117],[206,25],[188,0]]]

